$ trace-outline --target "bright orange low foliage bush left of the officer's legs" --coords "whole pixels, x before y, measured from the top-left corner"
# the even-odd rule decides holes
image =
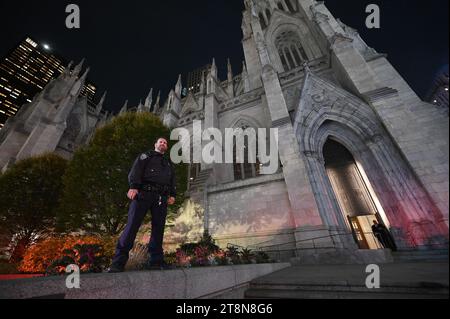
[[[87,266],[93,264],[96,265],[95,269],[98,269],[99,261],[101,261],[100,267],[106,267],[114,254],[114,244],[115,238],[109,237],[50,237],[27,249],[19,265],[19,271],[31,274],[47,272],[54,274],[61,270],[56,267],[61,266],[61,262],[67,260],[67,257],[73,257],[73,262],[78,264],[82,271],[93,270]]]

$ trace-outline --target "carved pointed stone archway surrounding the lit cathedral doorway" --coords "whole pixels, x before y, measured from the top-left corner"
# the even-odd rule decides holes
[[[325,225],[344,226],[322,152],[332,138],[344,145],[366,172],[400,246],[429,245],[439,236],[433,225],[437,210],[369,105],[308,74],[295,130]]]

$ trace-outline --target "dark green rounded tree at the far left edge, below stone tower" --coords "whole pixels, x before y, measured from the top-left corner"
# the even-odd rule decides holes
[[[12,240],[11,261],[19,263],[36,238],[54,231],[66,168],[67,160],[44,154],[0,173],[1,242]]]

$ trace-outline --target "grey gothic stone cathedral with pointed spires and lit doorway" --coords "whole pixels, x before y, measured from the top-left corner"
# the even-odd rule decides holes
[[[167,126],[191,132],[194,120],[222,131],[278,128],[281,168],[260,175],[255,164],[192,165],[191,200],[167,240],[193,239],[197,220],[200,233],[206,228],[222,246],[376,249],[371,225],[377,220],[400,249],[446,246],[444,111],[423,102],[386,56],[323,2],[245,5],[240,75],[229,65],[227,80],[220,81],[213,61],[200,92],[182,97],[180,79],[165,104],[158,97],[152,109],[149,96],[138,110],[152,109]],[[70,140],[81,143],[107,120],[101,105],[91,112],[74,107],[79,85],[63,77],[58,81],[76,87],[46,88],[57,94],[37,97],[2,132],[2,167],[11,158],[67,148],[61,145]],[[60,106],[49,111],[52,102]],[[61,126],[71,118],[76,134]]]

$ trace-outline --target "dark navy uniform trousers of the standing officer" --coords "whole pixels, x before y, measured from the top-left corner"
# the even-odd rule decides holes
[[[162,245],[167,217],[167,197],[160,197],[155,193],[140,192],[130,205],[128,223],[117,244],[113,265],[125,267],[139,228],[149,210],[152,214],[152,234],[149,244],[150,260],[152,264],[164,261]]]

